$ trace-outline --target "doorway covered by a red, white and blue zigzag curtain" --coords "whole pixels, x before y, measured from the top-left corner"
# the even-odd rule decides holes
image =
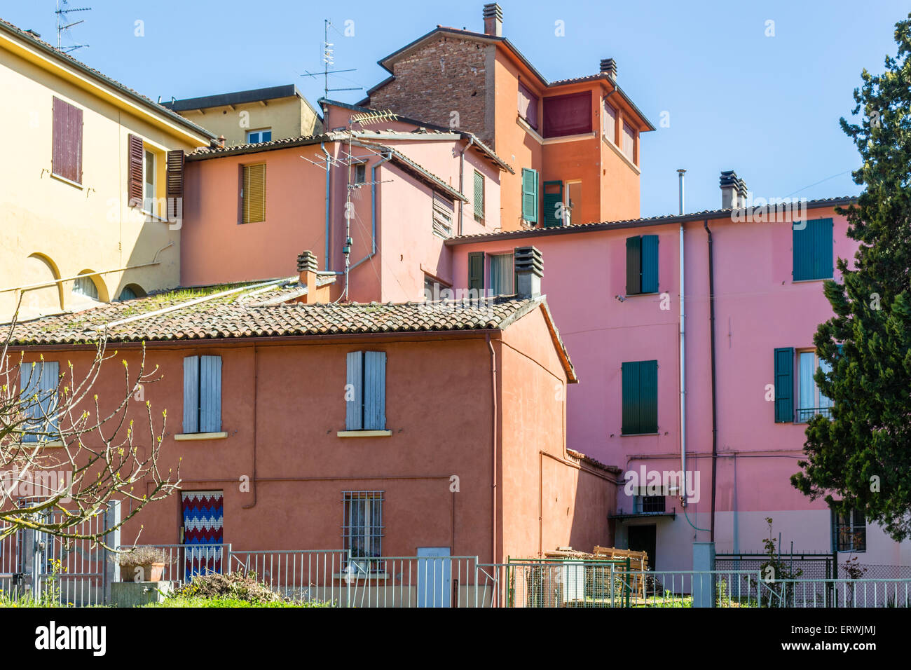
[[[207,572],[221,572],[224,542],[224,495],[220,490],[185,491],[183,505],[183,580]]]

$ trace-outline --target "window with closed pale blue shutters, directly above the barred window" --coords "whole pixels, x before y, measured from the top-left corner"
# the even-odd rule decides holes
[[[386,353],[348,352],[345,430],[386,429]]]

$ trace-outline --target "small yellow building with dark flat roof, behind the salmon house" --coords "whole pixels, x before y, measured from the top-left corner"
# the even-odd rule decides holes
[[[229,147],[322,132],[319,114],[293,84],[163,104],[217,137],[224,137]]]

